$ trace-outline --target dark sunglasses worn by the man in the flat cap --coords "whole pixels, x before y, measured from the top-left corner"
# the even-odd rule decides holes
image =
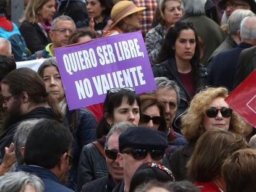
[[[155,161],[163,159],[163,149],[125,149],[121,153],[132,154],[134,159],[142,160],[147,157],[148,152],[150,153],[151,158]]]

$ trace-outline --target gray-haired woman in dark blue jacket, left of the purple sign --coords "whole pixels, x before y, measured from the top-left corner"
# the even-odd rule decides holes
[[[74,160],[69,170],[69,179],[70,181],[72,179],[72,182],[76,184],[80,152],[85,144],[95,140],[96,120],[88,109],[80,108],[69,111],[55,58],[50,58],[43,62],[38,69],[38,73],[45,81],[46,91],[59,102],[59,107],[61,107],[62,113],[66,116],[70,131],[74,137],[72,144],[72,159]],[[75,189],[75,186],[70,186],[70,188]]]

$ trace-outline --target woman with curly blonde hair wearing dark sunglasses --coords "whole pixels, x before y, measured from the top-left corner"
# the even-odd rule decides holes
[[[196,94],[190,102],[187,114],[182,117],[181,130],[189,144],[177,149],[169,158],[176,180],[187,178],[187,161],[205,131],[221,128],[242,135],[245,123],[224,101],[227,96],[226,88],[208,88]]]

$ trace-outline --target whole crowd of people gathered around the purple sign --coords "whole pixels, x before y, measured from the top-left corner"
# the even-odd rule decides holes
[[[0,191],[256,191],[256,129],[225,100],[256,68],[254,0],[28,0],[20,23],[8,4]],[[139,30],[156,90],[70,110],[54,49]]]

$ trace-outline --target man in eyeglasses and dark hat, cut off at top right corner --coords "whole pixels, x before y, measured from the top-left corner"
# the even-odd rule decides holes
[[[218,6],[225,11],[228,19],[234,10],[237,9],[249,9],[254,13],[256,12],[256,3],[254,0],[221,0],[218,2]]]

